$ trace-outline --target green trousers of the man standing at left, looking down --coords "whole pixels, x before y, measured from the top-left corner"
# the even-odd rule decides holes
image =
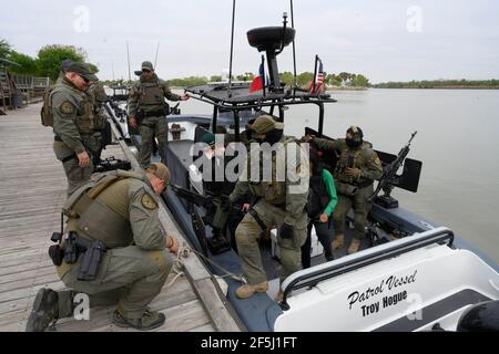
[[[62,163],[65,177],[68,178],[68,196],[69,196],[74,190],[77,190],[81,185],[90,180],[90,176],[92,176],[94,168],[93,163],[92,160],[90,160],[89,166],[86,166],[85,168],[81,168],[74,152],[70,149],[64,143],[61,142],[53,143],[53,152],[55,153],[55,157],[61,163],[65,158],[74,156],[74,158],[70,158],[65,163]],[[91,157],[91,154],[89,154],[89,157]]]

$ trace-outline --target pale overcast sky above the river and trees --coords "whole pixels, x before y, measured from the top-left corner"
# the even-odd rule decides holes
[[[47,44],[88,53],[101,79],[128,79],[144,60],[162,79],[220,75],[228,70],[232,0],[2,1],[0,39],[35,56]],[[289,0],[237,0],[235,74],[257,74],[261,53],[246,32],[282,25]],[[298,73],[318,54],[328,73],[360,73],[370,82],[499,79],[499,1],[294,0]],[[293,71],[292,48],[278,56]]]

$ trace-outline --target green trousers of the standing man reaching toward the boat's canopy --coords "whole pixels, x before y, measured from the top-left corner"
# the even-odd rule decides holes
[[[151,154],[153,148],[153,139],[157,138],[161,162],[166,164],[166,146],[169,142],[169,125],[166,118],[162,117],[147,117],[143,118],[139,126],[141,133],[141,167],[145,168],[151,164]]]

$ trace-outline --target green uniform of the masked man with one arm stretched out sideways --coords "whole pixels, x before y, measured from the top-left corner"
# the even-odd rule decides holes
[[[343,238],[346,214],[353,207],[355,211],[355,237],[357,239],[364,238],[369,211],[367,198],[374,192],[374,180],[383,175],[381,162],[373,150],[371,144],[367,142],[363,142],[356,148],[348,147],[346,139],[314,138],[314,144],[320,149],[333,149],[339,153],[339,159],[333,173],[338,192],[338,204],[333,212],[336,236]],[[360,169],[360,176],[356,179],[348,177],[345,173],[349,160],[354,163],[350,167]]]

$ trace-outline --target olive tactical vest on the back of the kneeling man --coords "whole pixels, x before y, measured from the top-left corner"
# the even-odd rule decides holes
[[[102,241],[109,249],[130,246],[129,178],[145,181],[142,175],[116,170],[95,177],[72,194],[62,209],[70,218],[68,231]]]

